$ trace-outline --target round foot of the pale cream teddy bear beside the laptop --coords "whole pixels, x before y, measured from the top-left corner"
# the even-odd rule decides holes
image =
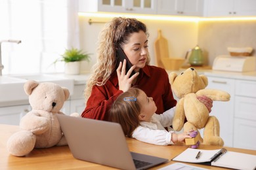
[[[18,131],[7,141],[7,150],[14,156],[25,156],[35,146],[36,137],[30,131]]]

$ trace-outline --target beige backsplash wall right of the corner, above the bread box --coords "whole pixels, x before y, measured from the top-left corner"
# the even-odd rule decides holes
[[[216,56],[228,54],[227,47],[252,47],[256,56],[256,21],[207,21],[198,25],[198,44],[212,65]]]

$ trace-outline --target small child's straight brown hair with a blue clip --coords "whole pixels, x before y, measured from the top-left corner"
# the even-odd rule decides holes
[[[127,137],[132,137],[133,131],[140,125],[141,106],[137,100],[140,91],[139,88],[130,88],[127,92],[121,93],[110,109],[110,121],[119,123]],[[125,100],[125,97],[134,97],[136,101]]]

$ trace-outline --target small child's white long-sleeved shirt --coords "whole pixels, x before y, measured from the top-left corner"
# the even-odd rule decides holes
[[[175,107],[166,110],[163,114],[153,114],[150,122],[140,122],[140,126],[133,131],[132,137],[145,143],[173,144],[171,141],[173,131],[167,131],[164,127],[172,125],[174,112]]]

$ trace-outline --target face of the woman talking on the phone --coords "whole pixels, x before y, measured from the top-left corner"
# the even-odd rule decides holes
[[[146,65],[148,56],[148,39],[143,31],[132,33],[128,42],[123,45],[123,52],[132,65],[136,65],[135,72],[142,69]]]

